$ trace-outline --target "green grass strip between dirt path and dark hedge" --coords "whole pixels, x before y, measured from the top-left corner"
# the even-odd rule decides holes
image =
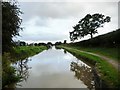
[[[75,48],[78,50],[84,50],[87,52],[92,52],[92,53],[97,53],[100,55],[107,56],[108,58],[117,60],[120,62],[120,57],[119,57],[119,48],[107,48],[107,47],[80,47],[80,46],[71,46],[71,45],[64,45],[64,46],[69,46],[71,48]]]

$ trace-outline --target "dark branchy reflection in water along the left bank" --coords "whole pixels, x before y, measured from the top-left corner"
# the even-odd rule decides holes
[[[25,60],[19,60],[16,63],[16,74],[19,75],[21,77],[21,81],[26,81],[28,76],[29,76],[29,71],[28,69],[30,69],[31,67],[28,67],[27,63],[28,61],[31,59],[25,59]]]

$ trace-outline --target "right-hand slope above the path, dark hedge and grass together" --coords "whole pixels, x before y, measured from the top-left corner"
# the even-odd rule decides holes
[[[98,53],[120,62],[120,29],[87,40],[69,43],[67,46]]]

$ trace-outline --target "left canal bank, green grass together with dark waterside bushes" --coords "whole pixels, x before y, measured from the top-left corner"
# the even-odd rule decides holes
[[[12,83],[20,82],[21,75],[16,74],[16,69],[11,66],[18,60],[24,60],[30,56],[47,49],[45,46],[19,46],[13,53],[4,53],[2,56],[2,87],[9,87]]]

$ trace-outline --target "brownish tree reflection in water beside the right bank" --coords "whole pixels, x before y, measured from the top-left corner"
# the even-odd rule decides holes
[[[83,81],[89,89],[94,88],[94,81],[91,68],[82,63],[79,65],[78,62],[71,62],[70,66],[71,71],[75,72],[75,77],[78,80]]]

